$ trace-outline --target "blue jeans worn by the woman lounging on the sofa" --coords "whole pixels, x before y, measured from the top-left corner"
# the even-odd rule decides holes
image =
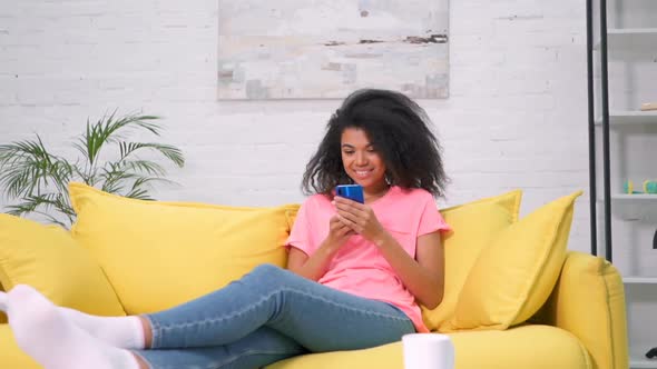
[[[356,350],[415,331],[400,309],[263,265],[225,288],[144,316],[153,369],[258,368],[307,352]]]

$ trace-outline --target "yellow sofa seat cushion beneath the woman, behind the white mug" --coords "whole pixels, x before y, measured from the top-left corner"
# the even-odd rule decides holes
[[[504,331],[449,335],[454,343],[454,369],[591,369],[586,348],[569,332],[548,326]],[[558,355],[555,355],[558,352]],[[402,343],[371,349],[312,353],[273,363],[267,369],[403,369]]]

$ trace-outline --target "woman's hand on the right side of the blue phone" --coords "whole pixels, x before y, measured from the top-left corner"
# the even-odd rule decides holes
[[[333,199],[333,205],[340,220],[367,240],[376,243],[388,233],[369,206],[339,196]]]

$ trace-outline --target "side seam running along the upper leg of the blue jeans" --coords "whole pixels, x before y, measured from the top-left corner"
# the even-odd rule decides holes
[[[325,299],[323,297],[315,296],[313,293],[307,293],[307,292],[302,291],[302,290],[297,290],[297,289],[284,287],[284,288],[280,288],[277,290],[274,290],[271,293],[262,297],[255,303],[246,307],[245,309],[239,310],[239,311],[236,311],[236,312],[233,312],[231,315],[223,316],[223,317],[217,317],[217,318],[212,318],[212,319],[204,319],[202,321],[184,322],[184,323],[176,323],[176,325],[170,325],[170,326],[163,325],[161,322],[158,322],[158,325],[157,325],[158,327],[155,327],[154,326],[154,331],[155,330],[173,330],[173,329],[180,329],[180,328],[189,328],[189,327],[196,327],[196,326],[206,325],[206,323],[214,325],[214,323],[216,323],[218,321],[224,321],[224,320],[233,319],[233,318],[235,318],[237,316],[241,316],[241,315],[244,315],[244,313],[248,312],[249,310],[256,309],[258,306],[261,306],[262,303],[264,303],[272,296],[274,296],[274,295],[276,295],[276,293],[278,293],[281,291],[295,292],[295,293],[298,293],[298,295],[303,295],[305,297],[310,297],[310,298],[313,298],[313,299],[322,300],[324,302],[327,302],[330,305],[336,306],[339,308],[352,310],[352,311],[360,312],[360,313],[363,313],[363,315],[370,315],[370,316],[374,316],[374,317],[379,317],[379,318],[391,319],[391,320],[399,320],[399,321],[408,321],[408,320],[410,320],[410,318],[408,316],[405,316],[403,312],[402,312],[403,317],[400,317],[400,316],[390,316],[390,315],[382,313],[382,312],[376,312],[376,311],[363,310],[363,309],[354,308],[354,307],[351,307],[351,306],[347,306],[347,305],[337,303],[337,302],[335,302],[333,300],[329,300],[329,299]],[[384,302],[382,302],[382,303],[384,303]],[[159,339],[160,336],[161,335],[155,335],[154,333],[154,338],[157,337]],[[155,341],[155,339],[154,339],[154,341]]]

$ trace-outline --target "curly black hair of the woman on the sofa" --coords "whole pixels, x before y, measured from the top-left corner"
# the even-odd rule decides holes
[[[329,120],[326,134],[306,164],[302,190],[330,195],[335,186],[353,182],[342,166],[341,139],[346,128],[356,128],[381,154],[392,184],[444,196],[448,177],[431,124],[424,109],[403,93],[377,89],[351,93]]]

